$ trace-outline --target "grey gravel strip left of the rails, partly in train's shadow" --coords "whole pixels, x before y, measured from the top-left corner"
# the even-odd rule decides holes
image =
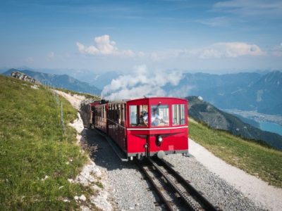
[[[156,205],[156,197],[137,166],[121,162],[103,136],[94,130],[85,129],[84,148],[91,151],[91,158],[98,167],[106,170],[107,183],[117,210],[164,210]]]

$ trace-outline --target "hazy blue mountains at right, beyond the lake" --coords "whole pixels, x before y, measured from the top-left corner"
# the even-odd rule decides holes
[[[228,75],[186,73],[177,87],[166,91],[185,90],[187,95],[202,96],[222,109],[257,110],[259,113],[282,115],[282,72],[260,75],[255,72]]]

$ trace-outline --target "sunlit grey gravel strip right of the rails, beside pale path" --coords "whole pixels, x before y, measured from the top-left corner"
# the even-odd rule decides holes
[[[195,158],[168,155],[164,159],[171,163],[185,179],[188,179],[197,191],[202,191],[204,196],[221,210],[262,210],[243,196],[243,193],[227,184],[216,174],[209,172]]]

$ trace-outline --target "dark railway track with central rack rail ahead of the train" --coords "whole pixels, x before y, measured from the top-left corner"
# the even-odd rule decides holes
[[[147,158],[137,165],[167,210],[218,210],[166,161]]]

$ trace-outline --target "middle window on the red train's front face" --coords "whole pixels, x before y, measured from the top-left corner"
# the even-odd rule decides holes
[[[152,126],[167,126],[169,124],[168,105],[151,106]]]

